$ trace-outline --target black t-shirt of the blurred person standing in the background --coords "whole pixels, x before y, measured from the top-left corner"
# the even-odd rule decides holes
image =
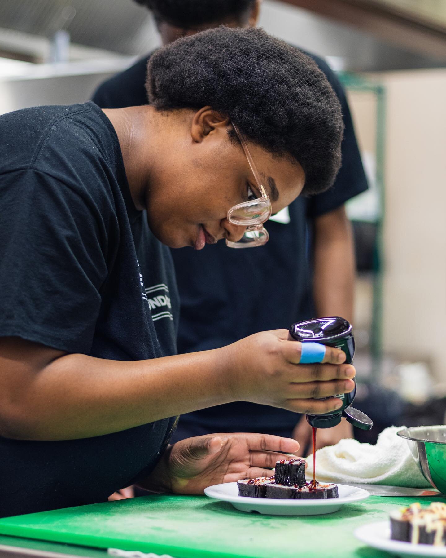
[[[289,223],[266,223],[270,240],[263,247],[237,250],[220,242],[200,252],[172,250],[181,299],[180,353],[223,347],[256,331],[288,328],[295,321],[314,317],[312,223],[365,191],[367,179],[342,85],[324,60],[306,54],[327,76],[341,102],[345,125],[341,170],[331,189],[297,198],[289,205]],[[94,101],[103,108],[147,104],[147,61],[144,57],[105,81]],[[282,432],[298,418],[284,409],[236,402],[183,415],[180,426],[186,434],[188,424],[200,424],[209,432]]]

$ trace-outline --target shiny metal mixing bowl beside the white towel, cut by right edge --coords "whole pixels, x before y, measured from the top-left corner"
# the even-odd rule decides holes
[[[400,430],[397,435],[408,441],[425,479],[446,494],[446,426],[416,426]]]

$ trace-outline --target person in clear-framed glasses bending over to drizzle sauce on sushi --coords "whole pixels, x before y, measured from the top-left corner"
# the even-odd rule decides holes
[[[176,417],[234,401],[325,413],[354,388],[342,351],[300,363],[287,329],[176,354],[169,248],[264,243],[271,214],[331,186],[343,124],[323,73],[264,31],[220,27],[158,50],[147,89],[149,105],[0,116],[1,516],[269,474],[297,441],[169,444]]]

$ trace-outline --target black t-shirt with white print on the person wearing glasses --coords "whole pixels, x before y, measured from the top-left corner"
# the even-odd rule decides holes
[[[24,109],[0,117],[0,137],[0,336],[114,360],[175,353],[171,254],[133,205],[109,119],[91,102]],[[151,471],[173,422],[0,437],[0,516],[105,501]]]

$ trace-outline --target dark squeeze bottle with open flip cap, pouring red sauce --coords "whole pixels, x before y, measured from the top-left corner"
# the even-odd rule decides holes
[[[316,320],[300,321],[293,324],[289,329],[292,339],[301,343],[321,343],[343,350],[346,354],[346,363],[353,362],[355,355],[355,338],[351,324],[339,316],[329,316],[327,318],[317,318]],[[346,417],[347,421],[353,426],[362,430],[370,430],[373,422],[367,415],[350,405],[356,395],[355,389],[350,393],[340,393],[336,395],[342,400],[343,405],[336,411],[325,413],[324,415],[307,415],[307,421],[313,428],[331,428],[341,422],[341,417]]]

